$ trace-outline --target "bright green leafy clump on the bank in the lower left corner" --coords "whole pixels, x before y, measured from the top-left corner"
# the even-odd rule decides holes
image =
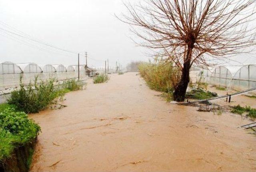
[[[12,105],[1,104],[0,107],[0,161],[2,161],[12,156],[15,147],[36,138],[40,126],[28,119],[25,112],[12,108]]]

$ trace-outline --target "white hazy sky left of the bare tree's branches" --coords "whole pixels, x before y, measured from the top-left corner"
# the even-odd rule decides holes
[[[89,65],[102,66],[105,59],[111,66],[116,61],[125,66],[131,61],[148,60],[146,50],[130,39],[129,26],[114,16],[121,12],[125,12],[122,0],[0,0],[0,28],[13,31],[8,24],[59,48],[87,51]],[[77,64],[77,55],[0,29],[0,61],[68,65]],[[81,61],[85,63],[84,58]]]

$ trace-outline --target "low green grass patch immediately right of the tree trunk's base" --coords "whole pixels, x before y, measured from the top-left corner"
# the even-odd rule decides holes
[[[198,100],[204,100],[204,99],[208,99],[216,96],[217,94],[210,91],[205,91],[201,88],[197,88],[186,93],[186,98],[198,99]]]

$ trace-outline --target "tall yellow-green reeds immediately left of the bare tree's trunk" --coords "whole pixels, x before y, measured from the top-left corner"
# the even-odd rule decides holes
[[[162,60],[156,61],[155,64],[144,62],[138,65],[138,69],[152,90],[164,92],[164,98],[167,101],[172,100],[172,93],[180,78],[180,71],[172,63]]]

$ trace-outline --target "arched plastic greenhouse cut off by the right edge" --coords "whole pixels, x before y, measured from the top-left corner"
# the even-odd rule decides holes
[[[232,86],[235,90],[246,90],[256,87],[256,64],[242,66],[232,79]]]

